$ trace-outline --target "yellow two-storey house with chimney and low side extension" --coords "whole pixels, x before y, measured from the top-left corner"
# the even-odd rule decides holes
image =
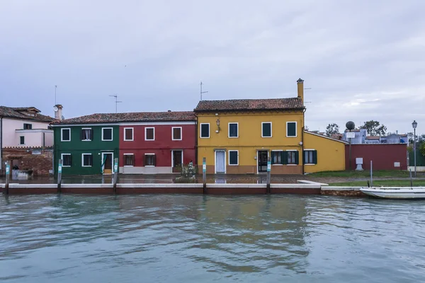
[[[200,101],[198,165],[205,157],[208,174],[258,174],[270,157],[272,174],[344,170],[344,142],[304,131],[303,82],[296,98]]]

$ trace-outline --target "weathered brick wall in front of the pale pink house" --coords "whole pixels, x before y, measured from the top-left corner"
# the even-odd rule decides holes
[[[20,170],[32,170],[34,176],[49,175],[52,170],[53,148],[23,148],[23,147],[6,147],[3,149],[3,161],[12,161],[18,164]],[[3,172],[5,173],[5,166]]]

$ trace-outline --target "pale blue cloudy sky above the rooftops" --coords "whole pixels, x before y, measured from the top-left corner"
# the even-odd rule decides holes
[[[425,1],[2,0],[0,105],[65,118],[288,98],[306,125],[425,133]]]

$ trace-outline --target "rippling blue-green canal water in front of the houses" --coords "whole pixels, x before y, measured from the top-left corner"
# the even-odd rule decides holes
[[[0,197],[0,282],[424,282],[425,202]]]

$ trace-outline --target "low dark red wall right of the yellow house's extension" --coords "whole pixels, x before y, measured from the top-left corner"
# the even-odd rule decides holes
[[[351,169],[356,169],[356,157],[363,157],[363,169],[370,170],[407,170],[406,144],[352,144]],[[394,167],[399,162],[400,167]],[[346,170],[349,168],[349,145],[346,145]]]

